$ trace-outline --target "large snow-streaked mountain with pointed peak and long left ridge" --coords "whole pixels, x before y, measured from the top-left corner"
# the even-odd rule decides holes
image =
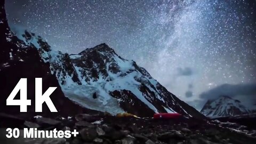
[[[119,57],[106,44],[68,55],[52,50],[41,37],[28,31],[19,37],[37,47],[44,62],[50,63],[51,73],[66,97],[79,105],[111,114],[127,111],[151,116],[168,112],[203,117],[167,91],[146,69]]]

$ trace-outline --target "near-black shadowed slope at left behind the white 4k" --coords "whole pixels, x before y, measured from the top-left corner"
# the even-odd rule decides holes
[[[81,113],[86,109],[76,105],[66,98],[61,91],[57,78],[51,74],[49,62],[44,62],[34,45],[26,45],[10,31],[4,10],[4,1],[0,2],[0,112],[28,115],[62,115],[68,116]],[[43,45],[42,45],[43,46]],[[35,78],[43,78],[43,92],[50,86],[57,87],[51,94],[58,113],[50,113],[44,104],[43,113],[35,114]],[[20,78],[27,78],[27,99],[31,100],[28,113],[20,113],[19,106],[6,106],[6,99],[19,82]],[[15,99],[19,98],[19,94]],[[72,109],[70,109],[72,108]]]

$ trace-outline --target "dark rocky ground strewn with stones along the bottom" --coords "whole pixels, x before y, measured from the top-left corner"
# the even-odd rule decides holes
[[[204,120],[193,118],[152,119],[116,116],[92,116],[80,114],[69,118],[34,117],[30,122],[0,115],[1,127],[38,127],[41,130],[78,130],[78,137],[70,139],[6,139],[1,129],[0,140],[4,143],[256,143],[256,139],[231,131]],[[15,123],[15,125],[14,125]],[[4,126],[5,125],[5,126]],[[5,133],[5,134],[4,134]]]

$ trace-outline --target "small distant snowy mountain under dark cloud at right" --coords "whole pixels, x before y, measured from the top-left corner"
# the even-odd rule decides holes
[[[249,114],[250,110],[243,106],[239,100],[221,96],[215,100],[208,100],[201,113],[208,117],[225,117]]]

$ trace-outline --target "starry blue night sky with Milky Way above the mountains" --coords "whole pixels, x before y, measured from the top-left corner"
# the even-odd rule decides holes
[[[107,43],[198,110],[220,94],[256,98],[254,0],[6,0],[5,9],[13,31],[55,50]]]

